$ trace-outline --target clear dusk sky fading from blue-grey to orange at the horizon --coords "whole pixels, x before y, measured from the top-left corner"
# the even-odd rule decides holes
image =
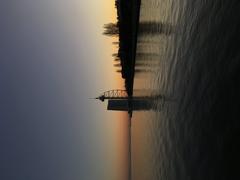
[[[0,179],[126,177],[127,115],[90,100],[123,88],[113,67],[113,0],[0,5]]]

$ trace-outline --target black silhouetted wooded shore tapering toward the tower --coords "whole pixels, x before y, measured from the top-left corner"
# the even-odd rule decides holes
[[[117,72],[125,79],[125,88],[129,97],[133,94],[140,4],[141,0],[116,0],[117,23],[105,24],[103,32],[104,35],[119,38],[118,42],[115,42],[119,45],[119,49],[113,57],[118,63],[115,66],[121,68]]]

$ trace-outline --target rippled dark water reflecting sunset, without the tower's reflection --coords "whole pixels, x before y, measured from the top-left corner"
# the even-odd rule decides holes
[[[240,179],[239,32],[239,0],[142,0],[132,179]]]

